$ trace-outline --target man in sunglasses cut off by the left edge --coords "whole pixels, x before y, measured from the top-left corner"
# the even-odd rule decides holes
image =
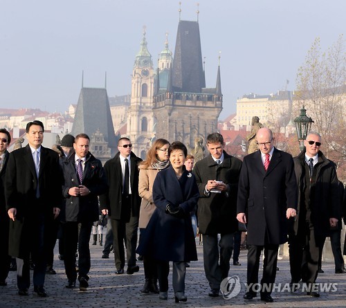
[[[10,133],[4,129],[0,129],[0,286],[6,286],[6,278],[10,271],[11,257],[8,255],[8,228],[10,226],[10,218],[6,210],[5,201],[5,174],[8,162],[7,151],[8,145],[10,145],[11,136]]]

